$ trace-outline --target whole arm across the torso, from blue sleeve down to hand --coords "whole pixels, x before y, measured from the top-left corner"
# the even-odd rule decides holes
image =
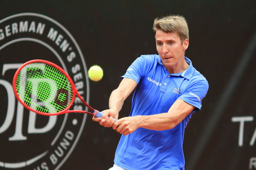
[[[195,108],[201,108],[201,100],[205,97],[208,88],[209,84],[205,78],[195,79],[172,104],[168,112],[123,117],[117,120],[112,127],[123,135],[130,134],[139,127],[152,130],[172,129]]]

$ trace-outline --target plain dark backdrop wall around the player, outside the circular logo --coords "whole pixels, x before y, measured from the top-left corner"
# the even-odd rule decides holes
[[[66,27],[80,46],[87,67],[98,64],[104,70],[102,80],[89,81],[90,105],[103,110],[126,68],[141,54],[157,53],[154,19],[184,15],[190,31],[186,56],[209,82],[202,110],[194,113],[185,130],[186,169],[240,170],[256,169],[251,159],[256,157],[252,142],[256,120],[244,125],[232,121],[232,117],[253,119],[256,114],[255,7],[255,0],[2,0],[0,19],[35,12]],[[1,63],[5,60],[0,59]],[[130,106],[131,96],[120,117],[129,115]],[[244,128],[239,146],[240,127]],[[87,116],[82,135],[61,169],[109,168],[119,137]]]

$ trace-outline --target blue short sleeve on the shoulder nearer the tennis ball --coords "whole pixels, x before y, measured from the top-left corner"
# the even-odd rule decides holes
[[[138,57],[126,70],[125,74],[121,78],[131,78],[137,83],[144,77],[146,60],[143,56]]]

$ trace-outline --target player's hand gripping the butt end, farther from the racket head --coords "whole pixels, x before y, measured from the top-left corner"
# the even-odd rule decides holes
[[[118,119],[112,126],[120,134],[127,135],[134,132],[140,126],[139,116],[123,117]]]

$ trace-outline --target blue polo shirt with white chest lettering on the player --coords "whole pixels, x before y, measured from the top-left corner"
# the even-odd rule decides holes
[[[183,138],[185,127],[194,111],[200,110],[208,91],[206,78],[185,57],[188,69],[169,74],[159,55],[138,57],[122,76],[134,79],[138,85],[133,95],[130,116],[167,112],[179,98],[195,109],[173,129],[138,128],[122,135],[114,162],[125,169],[184,169]]]

